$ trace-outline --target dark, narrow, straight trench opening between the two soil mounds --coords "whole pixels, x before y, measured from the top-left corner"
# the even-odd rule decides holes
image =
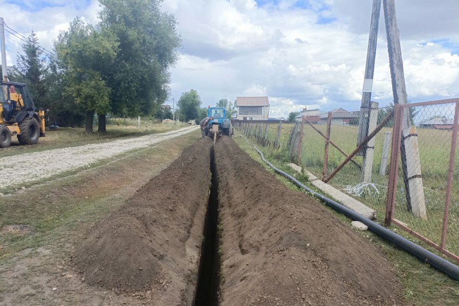
[[[218,180],[215,167],[214,148],[211,148],[212,185],[204,224],[201,258],[199,262],[198,281],[194,306],[217,306],[218,288],[220,285],[220,254],[218,247],[220,237],[218,224]]]

